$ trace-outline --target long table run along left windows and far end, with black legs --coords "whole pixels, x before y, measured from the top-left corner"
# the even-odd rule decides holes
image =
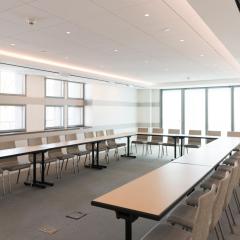
[[[25,185],[27,186],[33,186],[33,187],[40,187],[45,188],[46,186],[53,186],[54,184],[51,182],[47,182],[45,180],[45,161],[44,161],[44,154],[52,149],[60,149],[60,148],[66,148],[71,146],[78,146],[78,145],[85,145],[85,144],[92,144],[92,162],[90,165],[86,166],[91,169],[104,169],[106,168],[105,165],[99,164],[99,143],[106,140],[111,139],[119,139],[119,138],[127,138],[127,152],[126,154],[121,155],[122,157],[127,158],[136,158],[131,152],[130,152],[130,141],[131,137],[136,135],[147,135],[147,136],[166,136],[166,137],[172,137],[174,139],[174,158],[176,158],[176,148],[177,148],[177,139],[184,139],[188,137],[195,137],[195,138],[208,138],[208,139],[216,139],[216,137],[211,136],[196,136],[196,135],[183,135],[183,134],[155,134],[155,133],[140,133],[140,132],[128,132],[128,133],[120,133],[120,134],[114,134],[111,136],[104,136],[104,137],[94,137],[84,140],[73,140],[73,141],[63,141],[59,143],[51,143],[51,144],[42,144],[38,146],[25,146],[25,147],[17,147],[17,148],[11,148],[11,149],[4,149],[0,150],[0,161],[3,158],[10,158],[10,157],[17,157],[22,155],[33,155],[33,179],[32,182],[25,182]],[[96,154],[94,154],[96,153]],[[41,178],[40,180],[37,180],[37,155],[41,155]],[[182,155],[182,151],[181,151]]]

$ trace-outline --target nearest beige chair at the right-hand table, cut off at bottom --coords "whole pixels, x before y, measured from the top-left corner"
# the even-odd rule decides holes
[[[191,231],[170,224],[159,224],[142,240],[207,240],[215,198],[216,186],[213,186],[199,198],[197,208],[186,206],[192,216]]]

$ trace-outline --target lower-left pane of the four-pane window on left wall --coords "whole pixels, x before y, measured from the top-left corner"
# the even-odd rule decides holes
[[[63,110],[63,106],[46,106],[45,128],[62,128],[64,126]]]

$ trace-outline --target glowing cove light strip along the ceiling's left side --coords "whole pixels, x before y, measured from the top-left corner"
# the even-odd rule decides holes
[[[138,84],[145,85],[145,86],[153,85],[153,83],[151,83],[151,82],[143,81],[140,79],[135,79],[135,78],[131,78],[131,77],[123,76],[123,75],[117,75],[114,73],[99,71],[97,69],[90,69],[90,68],[86,68],[86,67],[79,66],[79,65],[58,62],[58,61],[54,61],[54,60],[47,59],[47,58],[39,58],[39,57],[35,57],[32,55],[24,54],[24,53],[7,51],[4,49],[0,49],[0,56],[24,60],[24,61],[28,61],[30,63],[38,63],[38,64],[45,65],[45,66],[58,67],[65,71],[72,70],[72,71],[77,71],[80,73],[88,73],[88,74],[98,75],[98,76],[109,78],[109,79],[120,79],[122,81],[138,83]]]

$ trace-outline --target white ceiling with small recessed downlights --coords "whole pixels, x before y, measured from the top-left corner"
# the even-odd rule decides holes
[[[29,26],[28,18],[36,24]],[[128,77],[115,80],[141,86],[229,82],[240,78],[239,23],[234,1],[226,0],[0,0],[0,50]]]

